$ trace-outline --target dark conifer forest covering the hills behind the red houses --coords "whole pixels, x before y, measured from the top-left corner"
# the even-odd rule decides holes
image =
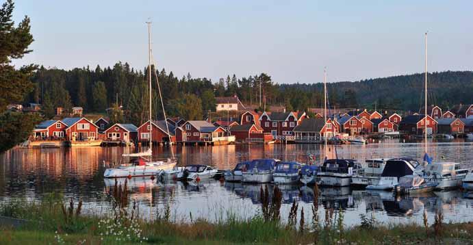
[[[152,67],[154,71],[154,67]],[[42,104],[43,114],[52,117],[55,107],[84,107],[86,113],[118,109],[124,117],[140,125],[148,111],[147,68],[135,70],[127,63],[118,62],[112,68],[75,68],[62,70],[40,67],[31,78],[34,90],[25,98],[27,102]],[[155,76],[156,75],[156,76]],[[216,96],[238,95],[245,105],[259,103],[259,84],[267,108],[284,105],[288,110],[307,111],[323,105],[322,83],[274,83],[270,75],[261,73],[249,77],[228,75],[219,81],[194,78],[190,74],[181,78],[163,68],[152,73],[153,111],[162,116],[156,77],[162,89],[164,105],[169,116],[182,116],[189,120],[202,119],[215,110]],[[446,71],[429,73],[429,103],[452,107],[457,103],[473,103],[473,73]],[[327,84],[331,107],[410,110],[416,112],[423,105],[424,74],[400,75],[361,81],[340,81]]]

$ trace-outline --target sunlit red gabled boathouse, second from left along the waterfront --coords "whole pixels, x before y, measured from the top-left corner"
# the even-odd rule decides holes
[[[99,127],[87,118],[64,118],[62,122],[67,125],[66,139],[69,141],[97,140]]]

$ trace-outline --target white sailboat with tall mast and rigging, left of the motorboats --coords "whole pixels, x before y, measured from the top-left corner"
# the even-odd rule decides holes
[[[151,125],[151,109],[152,109],[152,86],[151,86],[151,22],[146,22],[148,24],[148,79],[149,79],[149,123]],[[157,90],[159,91],[159,97],[161,99],[161,105],[164,114],[164,122],[166,122],[166,130],[169,136],[169,142],[172,142],[169,133],[169,127],[166,118],[166,112],[164,111],[164,103],[162,101],[161,88],[159,88],[159,81],[157,80],[156,70],[153,68],[154,75],[156,77]],[[120,164],[120,166],[107,168],[103,173],[105,178],[123,178],[123,177],[155,177],[159,172],[163,170],[172,170],[175,169],[177,165],[177,159],[174,156],[174,151],[171,146],[172,157],[168,159],[155,160],[153,161],[153,127],[150,127],[149,132],[149,148],[140,153],[129,153],[123,154],[122,157],[131,158],[129,164]],[[121,162],[121,160],[120,160]]]

